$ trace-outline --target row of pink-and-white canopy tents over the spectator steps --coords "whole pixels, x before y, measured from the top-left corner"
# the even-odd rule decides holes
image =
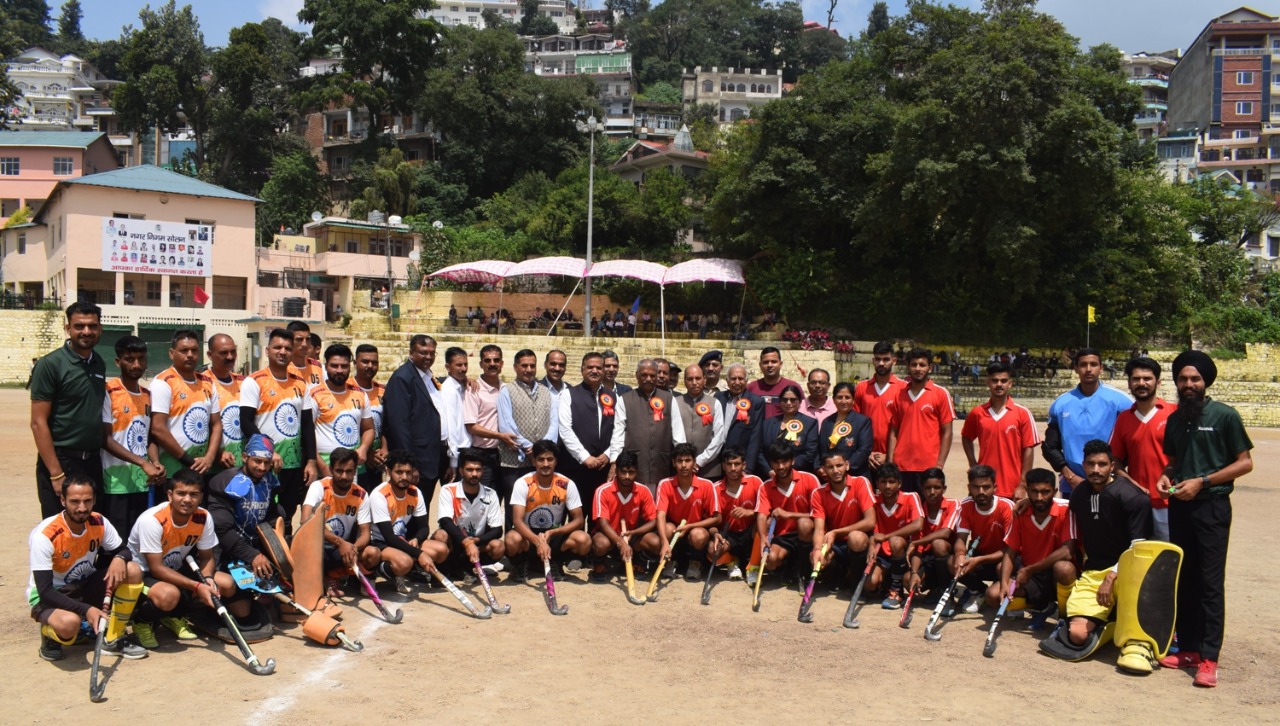
[[[506,262],[502,260],[479,260],[475,262],[460,262],[449,265],[431,273],[430,278],[444,278],[457,283],[485,283],[497,284],[506,278],[518,275],[566,275],[576,278],[631,278],[652,282],[658,286],[658,298],[660,311],[658,319],[662,321],[663,353],[667,348],[667,286],[690,282],[722,282],[746,284],[742,277],[741,260],[726,260],[722,257],[708,257],[689,260],[672,265],[659,265],[645,260],[605,260],[595,262],[588,269],[586,262],[577,257],[534,257],[524,262]],[[499,286],[500,291],[500,286]],[[577,287],[573,287],[577,292]],[[570,298],[573,297],[570,293]],[[500,306],[500,303],[499,303]],[[564,307],[568,300],[564,301]],[[561,314],[564,312],[561,307]],[[556,316],[559,320],[559,315]],[[590,325],[590,320],[584,320],[584,325]]]

